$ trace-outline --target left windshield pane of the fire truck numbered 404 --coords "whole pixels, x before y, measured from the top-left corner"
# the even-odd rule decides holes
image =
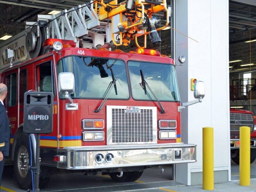
[[[71,98],[103,98],[112,80],[111,71],[116,78],[116,88],[109,93],[108,99],[128,99],[129,89],[123,60],[69,56],[57,64],[58,74],[71,72],[75,76],[75,92]],[[64,98],[64,95],[60,95]]]

